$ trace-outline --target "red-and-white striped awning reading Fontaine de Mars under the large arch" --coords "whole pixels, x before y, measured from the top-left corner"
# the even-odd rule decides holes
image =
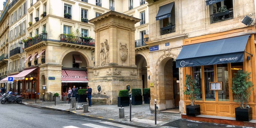
[[[87,72],[77,70],[61,70],[62,83],[87,83]]]

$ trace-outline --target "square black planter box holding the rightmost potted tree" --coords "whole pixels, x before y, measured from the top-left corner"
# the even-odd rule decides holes
[[[247,121],[252,120],[252,108],[235,108],[236,120]]]

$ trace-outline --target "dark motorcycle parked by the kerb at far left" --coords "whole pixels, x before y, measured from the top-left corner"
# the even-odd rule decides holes
[[[5,103],[22,103],[22,96],[18,95],[18,96],[12,96],[11,94],[5,94],[4,98],[1,101],[1,104],[5,104]]]

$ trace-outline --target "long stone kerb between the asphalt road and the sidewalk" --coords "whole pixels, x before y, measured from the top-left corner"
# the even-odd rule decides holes
[[[106,119],[106,118],[103,118],[103,117],[95,117],[95,116],[92,116],[92,115],[85,115],[85,114],[82,114],[82,113],[79,113],[79,112],[74,112],[74,110],[71,110],[71,109],[63,110],[63,109],[58,109],[58,108],[40,107],[40,106],[28,104],[26,102],[22,102],[21,104],[28,105],[28,106],[35,107],[35,108],[45,108],[45,109],[51,109],[51,110],[73,113],[73,114],[76,114],[78,116],[90,117],[90,118],[93,118],[93,119],[100,119],[100,120],[108,121],[108,122],[111,122],[111,123],[118,123],[118,124],[123,124],[123,125],[127,125],[127,126],[132,126],[132,127],[138,127],[138,128],[152,127],[152,125],[141,126],[141,125],[138,125],[138,124],[131,124],[131,123],[134,123],[134,122],[126,122],[126,121],[119,121],[119,120],[114,120],[114,119]],[[156,125],[155,128],[157,128],[157,127],[161,127],[161,126]]]

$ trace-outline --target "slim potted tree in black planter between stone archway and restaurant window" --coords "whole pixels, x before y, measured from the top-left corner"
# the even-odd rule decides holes
[[[186,74],[185,80],[186,90],[184,95],[191,101],[190,105],[186,105],[186,115],[187,116],[198,116],[201,115],[200,105],[194,104],[195,97],[200,94],[200,89],[197,88],[191,75]]]

